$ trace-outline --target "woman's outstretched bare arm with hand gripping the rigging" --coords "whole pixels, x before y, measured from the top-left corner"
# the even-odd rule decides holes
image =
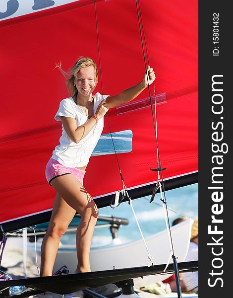
[[[147,76],[148,76],[148,80],[147,80]],[[155,73],[153,71],[153,68],[148,66],[146,74],[144,74],[143,80],[138,84],[136,84],[135,86],[123,90],[118,95],[109,96],[106,99],[107,107],[114,108],[121,104],[129,102],[130,100],[137,97],[148,86],[148,82],[150,85],[154,80],[155,80]]]

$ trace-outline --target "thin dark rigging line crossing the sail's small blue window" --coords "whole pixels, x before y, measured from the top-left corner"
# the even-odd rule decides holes
[[[104,91],[103,91],[103,80],[102,80],[102,69],[101,69],[101,59],[100,59],[100,42],[99,42],[99,30],[98,30],[98,20],[97,20],[97,10],[96,10],[96,0],[94,0],[94,7],[95,7],[95,21],[96,21],[96,34],[97,34],[97,47],[98,47],[98,56],[99,56],[99,65],[100,65],[100,82],[101,82],[101,93],[102,93],[102,98],[103,98],[103,94],[104,94]],[[121,169],[120,169],[120,165],[119,165],[119,161],[118,161],[118,157],[117,157],[117,151],[116,151],[116,148],[115,148],[115,144],[114,144],[114,140],[113,140],[113,134],[111,132],[111,129],[110,129],[110,124],[109,124],[109,119],[108,119],[108,115],[106,114],[106,119],[107,119],[107,123],[108,123],[108,127],[109,127],[109,132],[110,132],[110,136],[111,136],[111,139],[112,139],[112,143],[113,143],[113,147],[114,147],[114,152],[115,152],[115,156],[116,156],[116,159],[117,159],[117,166],[118,166],[118,170],[119,170],[119,173],[120,173],[120,179],[123,183],[123,188],[126,188],[125,187],[125,184],[124,184],[124,179],[123,179],[123,176],[122,176],[122,173],[121,173]]]

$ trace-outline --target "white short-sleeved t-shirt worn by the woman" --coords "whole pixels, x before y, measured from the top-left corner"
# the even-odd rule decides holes
[[[102,100],[106,100],[109,95],[101,95],[96,93],[92,95],[94,98],[94,114]],[[57,121],[61,121],[59,116],[74,118],[77,127],[86,123],[89,119],[84,110],[76,105],[72,97],[61,100],[58,112],[55,116]],[[95,149],[104,128],[104,117],[98,120],[89,134],[86,135],[79,143],[74,143],[66,134],[62,125],[62,135],[60,137],[60,144],[54,149],[52,158],[58,160],[67,167],[81,167],[88,164],[92,151]]]

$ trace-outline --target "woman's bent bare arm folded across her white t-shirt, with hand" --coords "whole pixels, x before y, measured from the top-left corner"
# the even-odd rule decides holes
[[[98,119],[104,117],[104,115],[109,110],[104,105],[104,103],[105,102],[102,101],[96,110],[96,116]],[[79,143],[83,138],[85,138],[90,133],[92,128],[96,125],[96,119],[94,117],[91,117],[86,123],[84,123],[79,127],[77,127],[77,123],[74,118],[60,116],[60,119],[62,121],[66,134],[74,143]]]

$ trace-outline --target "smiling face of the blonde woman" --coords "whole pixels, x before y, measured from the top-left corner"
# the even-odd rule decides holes
[[[74,84],[80,95],[91,95],[96,86],[95,69],[93,66],[83,67],[74,79]]]

